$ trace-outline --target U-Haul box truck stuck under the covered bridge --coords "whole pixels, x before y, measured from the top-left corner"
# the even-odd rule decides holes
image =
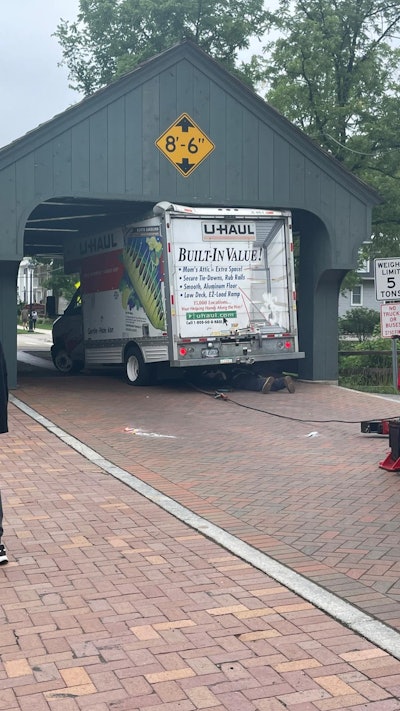
[[[65,269],[80,289],[54,324],[62,372],[124,364],[221,368],[299,353],[291,215],[158,203],[134,224],[80,238]]]

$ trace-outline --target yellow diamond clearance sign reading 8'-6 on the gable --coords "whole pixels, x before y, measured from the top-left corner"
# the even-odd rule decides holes
[[[188,114],[181,114],[157,139],[156,146],[185,178],[215,148]]]

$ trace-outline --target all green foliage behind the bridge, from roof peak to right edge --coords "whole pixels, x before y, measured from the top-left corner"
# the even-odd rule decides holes
[[[277,39],[240,64],[239,52],[265,32]],[[262,86],[382,197],[363,248],[370,258],[400,256],[399,35],[395,0],[278,0],[275,10],[262,0],[80,0],[77,20],[55,33],[71,86],[84,94],[185,39]]]

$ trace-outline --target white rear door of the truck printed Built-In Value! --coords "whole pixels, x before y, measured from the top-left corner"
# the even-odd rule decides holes
[[[263,333],[288,332],[283,222],[266,249],[265,234],[272,230],[264,221],[190,223],[188,228],[186,220],[174,219],[169,253],[181,337],[245,332],[253,322],[262,323]]]

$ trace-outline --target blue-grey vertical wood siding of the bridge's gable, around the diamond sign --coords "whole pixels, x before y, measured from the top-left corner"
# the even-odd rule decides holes
[[[3,154],[14,150],[13,167],[0,151],[0,258],[23,256],[16,230],[35,204],[73,195],[301,208],[337,241],[332,266],[353,266],[351,242],[357,247],[368,236],[370,209],[356,181],[217,65],[182,51],[176,60],[174,50],[162,63],[156,58],[154,69],[146,63],[23,137]],[[182,113],[215,144],[188,177],[155,146]]]

